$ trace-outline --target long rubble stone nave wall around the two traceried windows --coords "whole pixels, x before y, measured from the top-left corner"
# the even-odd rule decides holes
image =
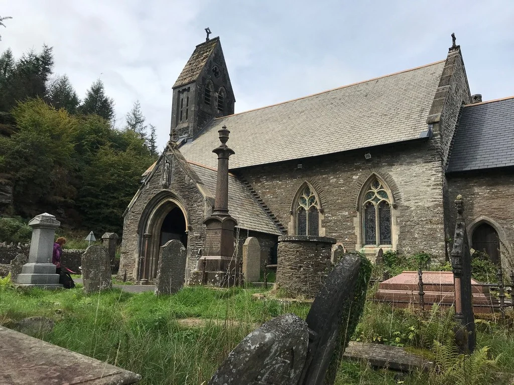
[[[238,170],[284,224],[303,181],[321,186],[325,236],[342,242],[349,251],[357,242],[354,219],[361,185],[372,172],[389,175],[397,186],[398,251],[425,251],[445,256],[443,173],[433,141],[418,141],[316,158],[261,165]],[[302,164],[302,168],[297,168]],[[392,188],[392,186],[390,186]],[[360,229],[358,230],[360,233]]]

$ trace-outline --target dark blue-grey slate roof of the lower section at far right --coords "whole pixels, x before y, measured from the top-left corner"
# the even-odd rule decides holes
[[[447,172],[514,166],[514,97],[463,107]]]

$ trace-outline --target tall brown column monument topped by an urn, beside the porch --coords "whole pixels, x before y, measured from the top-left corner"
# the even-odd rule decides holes
[[[230,131],[223,126],[219,133],[221,145],[212,152],[218,156],[214,210],[204,224],[206,228],[204,255],[198,270],[191,275],[191,284],[230,286],[235,282],[234,227],[237,221],[228,212],[228,159],[235,152],[227,146]]]

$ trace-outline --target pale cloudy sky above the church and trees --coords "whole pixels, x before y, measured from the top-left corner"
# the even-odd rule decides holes
[[[445,59],[452,32],[471,93],[514,95],[511,0],[0,0],[0,15],[13,17],[0,51],[52,46],[80,98],[100,76],[117,126],[139,100],[160,149],[171,87],[205,27],[221,38],[236,112]]]

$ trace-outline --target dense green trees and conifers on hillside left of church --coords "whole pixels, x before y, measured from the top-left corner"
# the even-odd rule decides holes
[[[71,229],[120,234],[123,211],[157,156],[155,127],[147,137],[139,102],[125,127],[113,127],[103,83],[81,103],[66,75],[51,79],[52,66],[47,46],[19,60],[10,49],[0,55],[0,180],[13,188],[13,205],[0,214],[49,212]]]

